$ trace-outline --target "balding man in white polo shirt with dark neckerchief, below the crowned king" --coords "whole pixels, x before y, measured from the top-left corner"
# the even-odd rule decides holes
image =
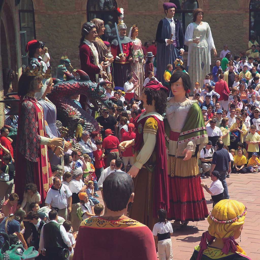
[[[45,206],[50,206],[52,210],[57,210],[58,215],[67,219],[71,212],[72,192],[67,185],[61,184],[59,177],[54,177],[53,185],[47,192]],[[67,210],[68,206],[68,210]]]

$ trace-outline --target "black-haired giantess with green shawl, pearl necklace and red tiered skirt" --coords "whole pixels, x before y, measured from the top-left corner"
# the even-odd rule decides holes
[[[174,97],[167,100],[165,120],[170,193],[167,218],[175,220],[176,230],[181,223],[186,225],[208,216],[197,159],[198,151],[208,142],[208,137],[197,102],[186,97],[192,86],[189,75],[174,73],[170,86]]]

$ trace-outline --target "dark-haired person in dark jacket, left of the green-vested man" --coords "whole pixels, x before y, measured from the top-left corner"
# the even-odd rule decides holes
[[[30,242],[31,245],[34,246],[35,250],[39,251],[41,230],[46,222],[40,219],[38,214],[34,211],[28,212],[26,218],[30,222],[30,228],[32,232],[31,236],[27,239],[27,242]],[[45,259],[45,257],[42,256],[40,251],[39,256],[35,259],[42,260]]]

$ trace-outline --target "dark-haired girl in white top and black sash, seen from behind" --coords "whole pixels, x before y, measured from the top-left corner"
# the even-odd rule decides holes
[[[159,260],[173,260],[171,235],[173,233],[172,224],[166,219],[166,211],[157,211],[159,222],[153,227],[153,237],[155,246],[158,248]],[[157,244],[158,242],[158,244]]]

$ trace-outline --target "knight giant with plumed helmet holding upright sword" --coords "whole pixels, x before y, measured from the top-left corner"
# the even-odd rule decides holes
[[[123,9],[118,8],[119,23],[115,29],[117,38],[111,42],[111,53],[114,57],[114,83],[116,87],[123,87],[127,76],[131,74],[130,61],[132,60],[132,40],[126,36],[126,25],[123,22]]]

